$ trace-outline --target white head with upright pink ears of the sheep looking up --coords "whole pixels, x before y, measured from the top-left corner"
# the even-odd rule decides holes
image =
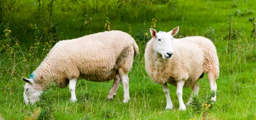
[[[171,30],[170,32],[163,32],[160,31],[159,33],[156,32],[156,30],[150,28],[150,33],[152,35],[152,39],[154,41],[153,44],[153,50],[154,52],[162,56],[163,59],[168,59],[173,54],[173,35],[176,35],[179,31],[179,27],[176,27],[175,29]]]

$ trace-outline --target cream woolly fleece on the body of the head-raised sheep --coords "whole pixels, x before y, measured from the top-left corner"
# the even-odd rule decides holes
[[[179,80],[186,80],[184,87],[197,83],[202,73],[211,71],[219,77],[219,60],[214,44],[201,36],[173,40],[173,55],[169,59],[157,57],[151,39],[145,50],[145,68],[154,83],[170,83],[176,86]]]

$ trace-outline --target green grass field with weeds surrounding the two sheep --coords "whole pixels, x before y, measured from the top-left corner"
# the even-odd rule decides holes
[[[256,119],[256,48],[253,24],[248,21],[256,16],[255,0],[51,1],[0,0],[0,116],[4,119],[29,119],[33,110],[40,112],[38,119]],[[176,88],[168,85],[174,110],[165,110],[162,86],[153,83],[144,67],[151,26],[157,31],[180,26],[175,38],[200,35],[214,42],[220,77],[217,101],[209,109],[202,104],[210,94],[205,75],[198,82],[200,106],[179,111]],[[28,78],[57,41],[105,30],[131,34],[140,49],[128,74],[128,103],[122,102],[122,84],[114,99],[107,101],[113,81],[82,79],[77,82],[75,103],[69,102],[68,87],[53,85],[43,93],[42,101],[25,104],[21,77]],[[183,89],[185,103],[190,93],[191,88]]]

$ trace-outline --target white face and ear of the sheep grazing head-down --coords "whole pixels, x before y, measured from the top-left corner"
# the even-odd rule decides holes
[[[39,96],[42,94],[43,88],[37,85],[33,79],[27,79],[22,77],[22,81],[26,82],[24,86],[23,97],[26,104],[33,104],[39,100]]]

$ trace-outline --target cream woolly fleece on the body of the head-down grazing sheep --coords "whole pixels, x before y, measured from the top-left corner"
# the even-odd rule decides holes
[[[42,63],[31,74],[35,82],[45,88],[53,79],[65,88],[69,80],[86,76],[92,81],[109,81],[122,68],[128,73],[138,46],[131,35],[118,31],[105,31],[56,43]],[[114,71],[109,76],[103,76]]]

